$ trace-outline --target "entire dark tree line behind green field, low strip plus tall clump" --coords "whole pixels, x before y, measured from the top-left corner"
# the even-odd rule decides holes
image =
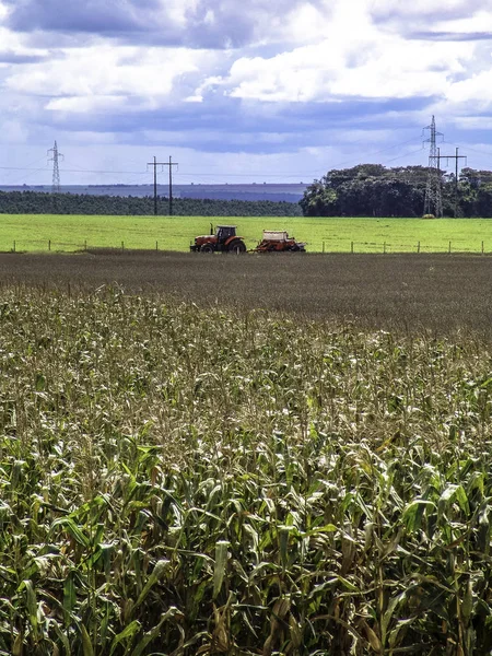
[[[360,164],[329,171],[300,203],[271,200],[173,199],[177,216],[422,216],[427,167]],[[492,216],[492,172],[462,168],[458,179],[441,172],[445,216]],[[168,214],[157,199],[157,214]],[[0,191],[0,213],[151,215],[154,199],[40,191]]]

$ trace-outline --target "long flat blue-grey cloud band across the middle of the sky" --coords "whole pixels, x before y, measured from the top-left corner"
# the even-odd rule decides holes
[[[411,108],[424,108],[431,102],[430,98],[413,98]],[[215,153],[241,151],[251,154],[318,147],[326,143],[320,134],[326,137],[327,132],[331,134],[329,142],[335,143],[347,129],[378,131],[382,129],[382,114],[393,116],[385,124],[387,129],[408,129],[408,125],[402,126],[398,118],[399,110],[409,109],[408,99],[286,103],[279,104],[273,113],[271,107],[265,108],[265,114],[261,114],[259,104],[255,117],[251,117],[239,102],[224,99],[213,108],[206,103],[184,104],[179,113],[163,108],[159,112],[105,112],[70,117],[52,115],[50,127],[102,133],[112,131],[118,143],[132,145],[162,144]]]

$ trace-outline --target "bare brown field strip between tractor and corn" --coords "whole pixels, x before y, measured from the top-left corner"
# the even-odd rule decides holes
[[[470,255],[1,254],[0,283],[117,284],[201,305],[269,308],[361,328],[492,335],[492,260]]]

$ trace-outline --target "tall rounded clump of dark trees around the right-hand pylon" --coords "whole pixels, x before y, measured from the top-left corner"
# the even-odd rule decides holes
[[[427,167],[360,164],[329,171],[305,191],[306,216],[422,216]],[[492,172],[441,172],[445,216],[492,216]]]

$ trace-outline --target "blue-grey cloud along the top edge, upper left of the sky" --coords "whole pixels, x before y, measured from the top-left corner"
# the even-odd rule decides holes
[[[199,0],[185,24],[173,22],[163,0],[4,0],[7,25],[19,32],[56,32],[118,38],[131,44],[183,45],[194,48],[242,47],[259,34],[271,37],[271,23],[303,0]],[[175,0],[177,3],[177,0]]]

